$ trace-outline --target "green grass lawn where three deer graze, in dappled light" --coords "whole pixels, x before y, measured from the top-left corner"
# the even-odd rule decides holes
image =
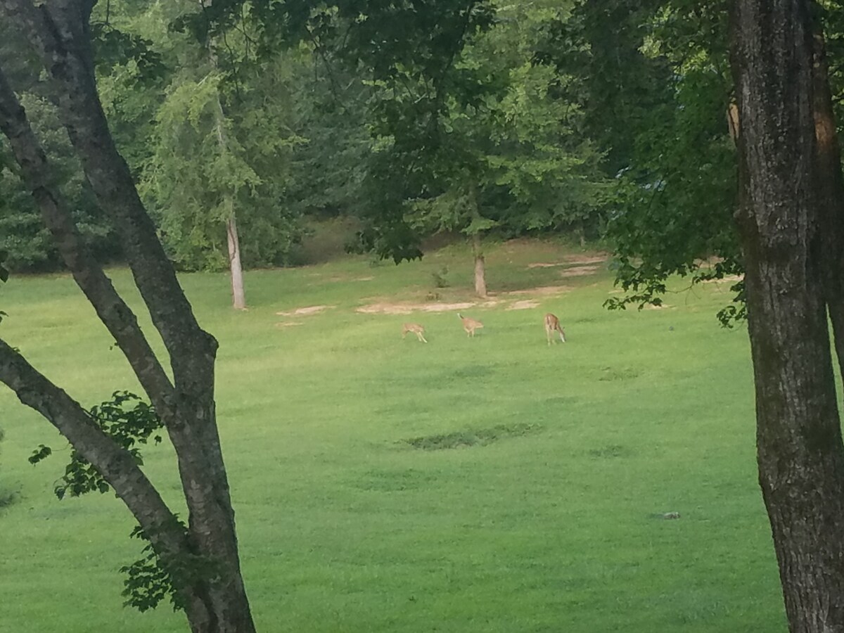
[[[356,311],[472,301],[463,246],[400,267],[248,273],[243,313],[225,275],[182,277],[220,342],[220,433],[259,630],[787,629],[747,334],[714,317],[728,284],[609,312],[611,275],[585,255],[492,247],[495,302],[463,310],[484,322],[473,339],[456,311]],[[129,275],[113,276],[137,306]],[[537,305],[507,309],[517,301]],[[327,307],[277,315],[306,306]],[[69,277],[11,279],[0,309],[3,338],[86,406],[138,389]],[[566,344],[546,344],[546,311]],[[430,343],[402,340],[404,321]],[[0,631],[187,630],[166,606],[122,608],[132,517],[113,495],[56,500],[66,444],[4,387],[0,427],[0,487],[19,490],[0,510]],[[32,467],[40,443],[57,454]],[[145,456],[181,511],[170,448]]]

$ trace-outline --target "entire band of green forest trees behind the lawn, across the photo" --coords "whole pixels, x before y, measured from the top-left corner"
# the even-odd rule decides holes
[[[289,265],[307,220],[339,215],[397,261],[441,231],[481,263],[484,235],[609,237],[638,299],[741,268],[724,0],[496,0],[459,24],[450,2],[358,4],[95,6],[100,99],[177,267],[229,268],[232,240],[245,268]],[[820,8],[841,115],[844,19]],[[19,37],[0,24],[0,60],[85,241],[120,262]],[[8,268],[61,267],[5,144],[0,168]]]

